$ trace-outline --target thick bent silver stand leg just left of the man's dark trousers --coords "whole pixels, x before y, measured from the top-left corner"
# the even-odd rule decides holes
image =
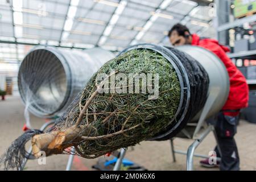
[[[191,146],[188,147],[188,152],[187,152],[187,171],[192,171],[193,170],[193,155],[195,153],[196,147],[199,146],[199,144],[203,141],[203,139],[210,133],[210,131],[213,131],[214,128],[213,126],[209,126],[207,130],[204,131],[201,136],[195,140],[191,144]]]

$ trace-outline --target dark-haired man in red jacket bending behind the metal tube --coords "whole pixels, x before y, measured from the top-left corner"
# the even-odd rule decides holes
[[[213,52],[224,63],[229,74],[230,90],[228,100],[215,118],[219,148],[214,149],[217,156],[221,156],[221,162],[212,164],[209,159],[206,159],[201,160],[200,164],[204,167],[220,166],[221,170],[239,170],[240,159],[234,135],[237,132],[240,110],[248,105],[249,88],[246,78],[226,55],[226,52],[230,51],[229,48],[222,46],[217,40],[200,38],[196,34],[191,35],[188,28],[180,23],[171,28],[168,37],[173,46],[184,44],[200,46]]]

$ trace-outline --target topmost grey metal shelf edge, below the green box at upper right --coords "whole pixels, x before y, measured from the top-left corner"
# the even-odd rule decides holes
[[[224,31],[224,30],[229,30],[230,28],[242,26],[243,23],[252,23],[255,21],[256,21],[256,14],[252,15],[252,16],[247,16],[245,18],[234,20],[234,22],[222,24],[221,26],[219,26],[217,28],[217,31],[220,32],[220,31]]]

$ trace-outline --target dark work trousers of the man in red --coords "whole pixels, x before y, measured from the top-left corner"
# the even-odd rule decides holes
[[[221,151],[221,171],[236,171],[240,169],[237,144],[234,140],[234,135],[237,133],[238,120],[238,116],[230,117],[224,115],[222,111],[217,115],[215,130]],[[217,146],[215,147],[215,151],[217,156],[220,157]]]

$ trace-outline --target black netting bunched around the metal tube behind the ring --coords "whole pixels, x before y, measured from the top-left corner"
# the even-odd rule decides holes
[[[183,115],[181,112],[177,116],[177,120],[181,119],[180,125],[170,134],[162,137],[158,140],[167,140],[172,137],[175,137],[177,133],[182,130],[189,121],[203,108],[205,101],[207,100],[208,87],[209,87],[209,77],[203,66],[193,57],[189,56],[187,53],[179,51],[178,49],[167,47],[170,49],[179,61],[183,64],[185,71],[188,75],[189,85],[190,85],[190,101],[187,109],[187,113]],[[185,94],[185,93],[184,93]],[[183,110],[184,110],[183,106]],[[167,127],[166,130],[162,131],[158,135],[166,133],[168,130],[171,130],[175,123],[172,123]],[[156,135],[157,136],[157,135]]]

